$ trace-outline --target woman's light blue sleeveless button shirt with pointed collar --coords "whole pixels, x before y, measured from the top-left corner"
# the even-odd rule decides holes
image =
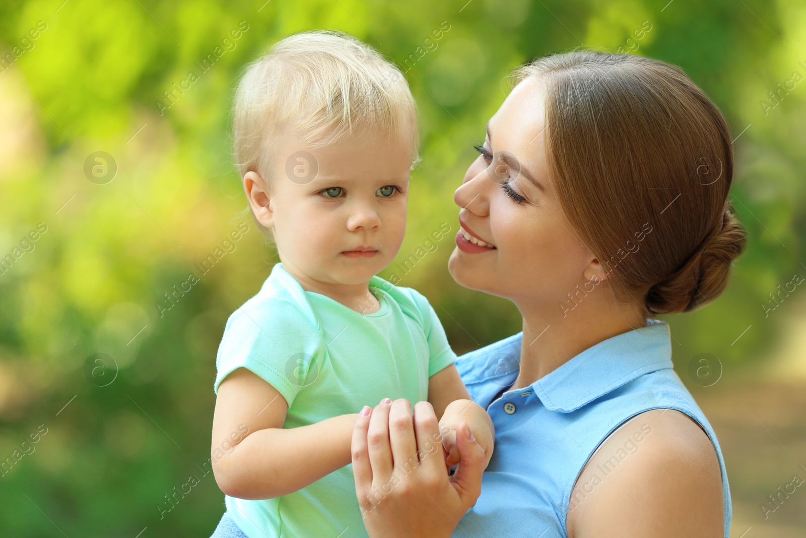
[[[481,496],[453,536],[566,537],[569,506],[584,502],[584,491],[580,497],[577,490],[572,499],[572,490],[596,448],[638,413],[675,409],[696,420],[716,448],[728,538],[730,491],[717,436],[672,369],[668,323],[647,319],[647,324],[593,345],[532,385],[507,390],[500,398],[517,377],[522,332],[457,359],[467,390],[495,424],[496,446]],[[646,430],[636,430],[633,439],[639,446]],[[603,474],[629,458],[630,452],[621,453],[601,469]]]

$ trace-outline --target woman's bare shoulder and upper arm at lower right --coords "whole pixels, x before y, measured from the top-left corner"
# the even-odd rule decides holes
[[[569,538],[722,538],[717,453],[679,411],[646,411],[613,432],[571,492]]]

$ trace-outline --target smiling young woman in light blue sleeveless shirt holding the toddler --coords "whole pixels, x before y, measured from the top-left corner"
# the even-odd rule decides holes
[[[641,56],[548,56],[516,81],[456,190],[448,264],[523,316],[456,362],[495,451],[482,477],[460,424],[448,477],[426,454],[428,402],[365,408],[352,461],[368,533],[729,536],[717,437],[654,319],[717,298],[745,247],[725,119],[680,69]]]

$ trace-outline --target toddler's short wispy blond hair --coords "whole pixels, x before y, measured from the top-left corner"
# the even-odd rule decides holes
[[[235,165],[241,177],[253,170],[269,181],[268,162],[287,133],[322,147],[365,130],[391,138],[406,125],[416,163],[417,111],[400,70],[351,35],[306,31],[247,65],[233,106]]]

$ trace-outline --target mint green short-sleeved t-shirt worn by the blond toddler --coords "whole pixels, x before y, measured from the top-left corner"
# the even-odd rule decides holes
[[[372,277],[380,310],[361,314],[305,291],[282,267],[226,321],[214,390],[243,367],[264,378],[289,410],[286,428],[348,413],[382,398],[428,399],[428,378],[455,353],[428,300]],[[249,538],[367,536],[352,465],[293,494],[265,500],[225,496],[226,510]]]

